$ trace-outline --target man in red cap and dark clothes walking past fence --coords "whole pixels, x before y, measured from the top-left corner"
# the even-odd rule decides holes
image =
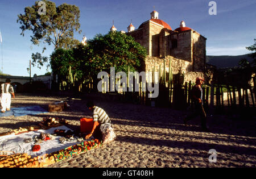
[[[195,103],[196,111],[195,113],[188,115],[184,119],[184,124],[187,124],[188,120],[195,118],[197,115],[200,115],[201,118],[201,127],[203,131],[209,131],[206,126],[207,115],[205,114],[203,106],[203,89],[201,85],[203,84],[204,79],[201,77],[196,78],[196,85],[192,87],[192,101]]]

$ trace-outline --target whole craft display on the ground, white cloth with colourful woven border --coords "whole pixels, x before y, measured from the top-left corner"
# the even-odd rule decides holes
[[[45,167],[102,145],[98,139],[86,141],[67,124],[64,119],[44,118],[40,126],[0,135],[0,168]]]

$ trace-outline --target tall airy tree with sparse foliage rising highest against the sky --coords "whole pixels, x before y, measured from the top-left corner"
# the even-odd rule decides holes
[[[25,7],[24,14],[19,14],[17,22],[21,24],[22,30],[20,35],[24,36],[24,31],[32,32],[31,41],[34,45],[40,43],[54,45],[55,49],[70,49],[79,44],[79,40],[73,38],[75,31],[80,28],[79,18],[80,10],[75,5],[63,3],[60,6],[54,2],[43,0],[46,3],[46,15],[40,15],[39,10],[42,8],[39,1],[31,7]],[[43,52],[46,47],[43,48]],[[43,53],[42,52],[42,53]],[[32,65],[38,63],[38,67],[47,63],[48,57],[42,56],[40,53],[32,54]]]

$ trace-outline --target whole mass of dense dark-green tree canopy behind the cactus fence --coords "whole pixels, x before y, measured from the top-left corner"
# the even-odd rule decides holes
[[[66,77],[69,66],[77,78],[97,78],[100,71],[115,72],[140,70],[146,57],[146,49],[131,36],[121,32],[98,34],[87,45],[79,44],[72,50],[57,49],[51,55],[51,68],[58,76]]]

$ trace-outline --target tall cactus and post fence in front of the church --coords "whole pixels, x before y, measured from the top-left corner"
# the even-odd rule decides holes
[[[169,63],[170,64],[170,63]],[[171,64],[170,64],[171,65]],[[166,63],[164,61],[164,68],[166,69]],[[155,73],[158,72],[158,77]],[[161,70],[161,66],[156,70],[155,67],[152,71],[146,72],[147,82],[143,84],[142,79],[137,76],[134,77],[133,84],[122,84],[121,88],[126,90],[118,90],[114,92],[108,92],[109,86],[102,83],[102,88],[105,89],[102,92],[98,92],[97,84],[100,80],[94,78],[84,78],[83,80],[77,80],[76,74],[72,74],[69,69],[69,75],[67,80],[62,81],[59,85],[60,90],[72,90],[81,93],[90,93],[92,91],[100,93],[101,95],[113,97],[115,100],[123,102],[139,103],[144,105],[158,106],[158,107],[172,107],[174,109],[186,109],[191,106],[191,89],[194,84],[191,81],[184,82],[184,74],[172,74],[172,68],[169,66],[168,73],[166,70]],[[129,74],[129,72],[128,72]],[[129,78],[129,75],[128,75]],[[145,86],[153,85],[155,80],[158,81],[159,95],[157,98],[148,98],[150,92],[143,91]],[[212,84],[210,86],[203,85],[203,100],[207,105],[214,109],[230,108],[245,108],[255,107],[255,77],[253,82],[246,87],[230,86],[225,84]],[[115,79],[115,85],[118,84],[118,80]],[[139,84],[139,91],[135,90],[135,82]],[[129,91],[132,86],[133,90]],[[153,85],[154,86],[154,85]],[[108,90],[107,90],[108,89]]]

